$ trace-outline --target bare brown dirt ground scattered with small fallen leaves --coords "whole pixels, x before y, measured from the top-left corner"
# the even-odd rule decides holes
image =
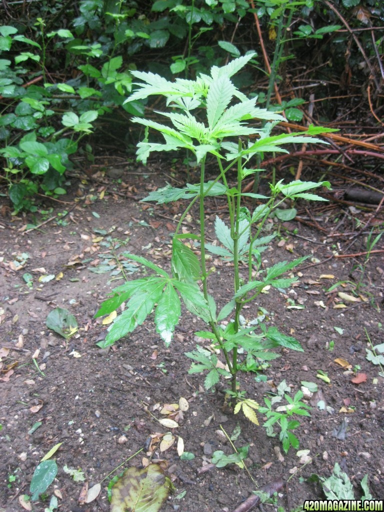
[[[278,500],[264,504],[263,510],[281,506],[288,512],[307,499],[324,498],[321,487],[306,480],[311,474],[329,477],[336,462],[348,474],[356,498],[361,496],[361,479],[368,475],[373,497],[382,499],[384,379],[380,367],[367,360],[366,348],[371,348],[368,336],[373,345],[384,343],[384,237],[368,261],[365,254],[338,257],[367,250],[371,224],[355,238],[348,233],[358,232],[358,222],[364,227],[372,220],[373,210],[322,204],[323,209],[313,205],[308,217],[303,206],[300,220],[274,221],[279,236],[263,253],[266,266],[311,257],[299,269],[297,286],[285,293],[271,289],[260,304],[245,310],[246,321],[251,321],[264,308],[267,325],[295,336],[304,348],[278,350],[281,357],[264,371],[265,382],[248,373],[241,376],[241,386],[263,404],[263,396],[277,393],[284,380],[291,396],[302,381],[317,384],[318,391],[307,398],[311,416],[295,418],[301,422],[295,431],[299,450],[309,451],[308,461],[294,449],[285,454],[278,436],[267,436],[261,426],[262,415],[260,426],[233,415],[222,392],[205,392],[204,376],[187,373],[190,360],[184,352],[195,348],[194,332],[202,327],[189,313],[168,349],[151,322],[109,350],[96,345],[106,329],[101,318],[93,318],[100,303],[124,282],[124,273],[127,279],[143,273],[121,253],[128,250],[169,268],[169,244],[182,207],[137,201],[166,181],[169,176],[155,167],[132,166],[119,168],[115,176],[71,178],[71,193],[63,197],[66,204],[52,201],[42,206],[44,215],[0,219],[0,510],[23,510],[20,496],[30,494],[35,467],[57,443],[62,443],[52,457],[57,476],[46,501],[34,502],[32,510],[44,511],[54,492],[59,510],[65,512],[109,510],[106,487],[111,478],[124,467],[140,466],[146,454],[136,453],[148,437],[169,431],[158,422],[165,417],[161,409],[180,398],[189,408],[178,418],[173,435],[182,437],[184,450],[195,458],[180,460],[176,443],[160,452],[160,436],[153,438],[153,458],[165,461],[175,486],[164,512],[232,512],[254,490],[276,479],[284,482]],[[211,226],[216,215],[223,216],[222,206],[219,200],[210,205]],[[188,219],[186,227],[188,222],[193,226],[194,216]],[[373,221],[383,229],[382,212]],[[31,224],[41,225],[31,230]],[[222,306],[229,296],[231,268],[214,260],[210,264],[216,266],[211,291]],[[339,281],[343,284],[327,291]],[[68,340],[46,326],[56,307],[77,319],[79,330]],[[337,358],[350,366],[344,368]],[[319,371],[329,383],[317,376]],[[358,375],[361,382],[353,382]],[[41,424],[30,433],[36,423]],[[213,452],[233,453],[221,427],[229,436],[240,429],[233,443],[237,449],[249,446],[249,474],[237,465],[201,471]],[[84,482],[75,482],[64,466],[81,470],[89,487],[101,483],[98,498],[79,502]]]

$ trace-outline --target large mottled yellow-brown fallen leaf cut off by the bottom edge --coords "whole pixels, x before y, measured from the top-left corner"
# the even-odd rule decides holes
[[[170,480],[158,464],[141,470],[130,467],[112,486],[111,512],[158,512],[171,488]]]

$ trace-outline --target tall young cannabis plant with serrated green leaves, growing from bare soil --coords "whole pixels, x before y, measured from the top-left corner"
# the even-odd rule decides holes
[[[279,332],[275,327],[267,328],[263,323],[242,327],[240,322],[243,307],[260,295],[266,286],[286,288],[294,283],[296,278],[282,275],[305,259],[283,261],[265,272],[262,271],[260,254],[273,238],[261,237],[263,225],[271,210],[281,205],[285,199],[323,200],[308,193],[308,190],[319,186],[329,188],[330,184],[325,181],[293,181],[288,184],[279,181],[274,186],[271,185],[270,196],[266,197],[243,193],[242,182],[247,176],[261,170],[252,168],[252,157],[263,157],[266,152],[287,153],[283,145],[292,142],[322,142],[312,136],[332,131],[310,126],[303,133],[272,135],[273,127],[283,117],[255,106],[257,99],[248,99],[230,79],[253,55],[249,53],[234,59],[222,68],[214,66],[210,70],[210,75],[201,74],[196,80],[178,78],[170,82],[153,73],[132,72],[142,82],[137,83],[138,89],[126,101],[147,98],[152,94],[162,95],[166,98],[168,109],[158,114],[170,121],[168,125],[139,117],[132,119],[133,122],[145,126],[145,138],[138,143],[138,160],[145,163],[150,153],[155,151],[186,149],[194,154],[200,165],[200,183],[187,184],[184,188],[167,186],[152,192],[144,199],[158,204],[180,199],[188,203],[173,237],[172,271],[169,274],[146,258],[126,254],[127,258],[151,269],[153,275],[129,281],[115,288],[113,296],[103,302],[96,314],[110,314],[122,303],[127,303],[124,311],[116,317],[105,340],[98,344],[100,347],[108,347],[132,332],[144,322],[153,309],[156,330],[168,346],[180,319],[181,297],[186,309],[198,316],[207,326],[205,330],[196,334],[211,340],[214,352],[219,351],[226,363],[225,368],[218,367],[217,355],[198,346],[195,351],[186,353],[194,360],[190,372],[207,372],[207,389],[214,387],[220,376],[228,377],[232,404],[238,400],[241,403],[241,406],[235,408],[235,412],[242,409],[252,421],[255,420],[252,409],[255,409],[257,404],[253,400],[245,400],[243,393],[238,390],[238,372],[241,370],[238,349],[241,347],[245,353],[265,352],[276,347],[303,350],[297,340]],[[247,123],[253,119],[267,122],[263,127]],[[164,143],[150,142],[149,129],[162,134]],[[247,141],[244,142],[244,139]],[[215,179],[205,181],[205,162],[208,156],[216,158],[218,173]],[[236,172],[236,177],[233,178],[231,174],[230,179],[236,180],[236,186],[229,184],[228,175],[232,169]],[[228,225],[220,218],[217,218],[215,223],[216,235],[221,246],[207,244],[205,241],[204,203],[212,196],[226,197],[228,205]],[[242,205],[245,197],[263,203],[250,211]],[[200,230],[198,233],[181,233],[181,223],[195,203],[199,204]],[[194,241],[195,249],[184,244],[185,240]],[[208,293],[208,253],[233,264],[232,296],[220,311],[217,310],[215,297]],[[246,278],[241,279],[240,270],[242,274],[246,274]],[[225,288],[227,287],[226,280]],[[230,318],[230,322],[224,326],[222,322],[226,318]]]

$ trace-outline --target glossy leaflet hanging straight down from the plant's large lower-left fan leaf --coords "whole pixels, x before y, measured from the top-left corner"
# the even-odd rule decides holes
[[[172,340],[175,326],[181,314],[180,298],[172,283],[168,283],[163,291],[155,310],[156,331],[160,334],[166,346]]]

